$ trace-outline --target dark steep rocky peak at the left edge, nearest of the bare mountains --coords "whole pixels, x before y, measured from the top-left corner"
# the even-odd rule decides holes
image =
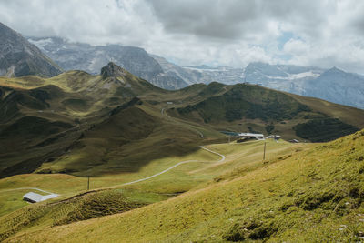
[[[0,23],[0,76],[56,76],[61,72],[36,46]]]

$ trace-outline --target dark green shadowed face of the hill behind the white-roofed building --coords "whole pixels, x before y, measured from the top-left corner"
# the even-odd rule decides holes
[[[283,93],[259,86],[236,85],[221,96],[208,97],[195,106],[178,109],[178,112],[188,115],[191,111],[197,111],[205,123],[209,123],[219,120],[231,122],[243,117],[282,121],[309,110],[308,106]]]

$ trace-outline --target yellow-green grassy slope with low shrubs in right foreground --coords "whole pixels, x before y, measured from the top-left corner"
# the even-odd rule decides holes
[[[356,241],[364,232],[364,130],[219,177],[126,213],[8,242]]]

